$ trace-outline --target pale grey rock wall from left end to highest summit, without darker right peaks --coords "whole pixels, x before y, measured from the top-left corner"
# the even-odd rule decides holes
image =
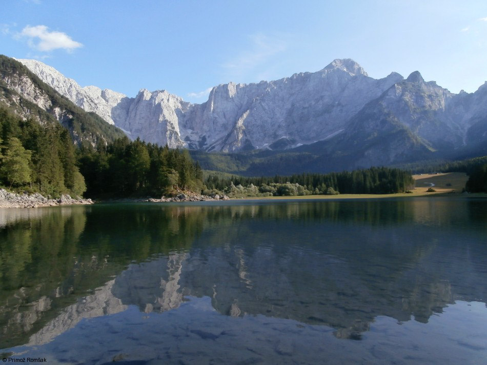
[[[208,151],[271,148],[282,140],[291,148],[330,137],[367,102],[402,79],[392,73],[376,80],[353,60],[336,59],[314,73],[219,85],[206,103],[190,104],[164,90],[142,89],[128,98],[112,90],[82,88],[41,62],[19,61],[60,94],[132,138]]]

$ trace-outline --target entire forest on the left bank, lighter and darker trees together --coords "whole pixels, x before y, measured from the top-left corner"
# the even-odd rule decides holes
[[[1,107],[0,146],[0,186],[19,192],[111,198],[202,189],[202,171],[187,150],[127,137],[76,148],[59,123],[41,125]]]

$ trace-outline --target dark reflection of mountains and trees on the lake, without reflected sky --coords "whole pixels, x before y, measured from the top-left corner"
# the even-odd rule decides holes
[[[487,300],[486,222],[485,201],[444,198],[0,210],[0,348],[188,296],[341,339],[381,316],[427,323]]]

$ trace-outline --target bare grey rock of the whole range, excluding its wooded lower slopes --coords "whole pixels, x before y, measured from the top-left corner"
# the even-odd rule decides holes
[[[407,79],[395,72],[374,79],[352,59],[335,59],[318,72],[271,82],[218,85],[203,104],[187,103],[165,90],[142,89],[129,98],[112,90],[82,88],[43,63],[20,61],[59,93],[131,138],[171,148],[282,150],[328,140],[338,146],[356,142],[343,136],[360,139],[358,130],[363,138],[363,133],[381,135],[379,121],[384,118],[404,131],[396,142],[382,146],[390,155],[381,159],[384,163],[401,155],[389,151],[394,146],[412,144],[431,152],[487,140],[487,86],[473,94],[453,94],[435,82],[425,82],[418,71]],[[363,122],[367,130],[361,124],[364,113],[375,115],[375,123]],[[385,156],[384,151],[369,155]]]

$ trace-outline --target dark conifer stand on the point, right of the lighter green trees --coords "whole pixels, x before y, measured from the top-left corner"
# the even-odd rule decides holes
[[[202,170],[193,163],[188,150],[124,137],[96,150],[83,147],[79,155],[79,169],[90,197],[160,197],[176,189],[202,189]]]

